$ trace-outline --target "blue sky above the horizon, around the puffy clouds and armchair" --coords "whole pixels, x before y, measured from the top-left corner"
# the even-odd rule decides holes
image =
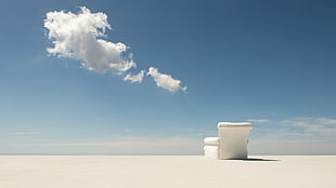
[[[107,16],[112,29],[98,39],[129,46],[120,54],[137,68],[99,72],[80,55],[47,51],[55,39],[46,14],[79,6]],[[3,0],[0,153],[202,155],[218,122],[249,121],[251,155],[335,155],[335,9],[326,0]],[[124,80],[141,70],[141,82]],[[180,85],[169,91],[155,76]]]

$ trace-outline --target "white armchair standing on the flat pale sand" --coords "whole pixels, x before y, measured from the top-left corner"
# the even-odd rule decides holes
[[[211,159],[247,159],[247,143],[251,123],[219,122],[219,137],[204,139],[205,157]]]

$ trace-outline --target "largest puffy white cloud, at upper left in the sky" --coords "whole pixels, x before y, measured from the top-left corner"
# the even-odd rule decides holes
[[[105,37],[105,29],[111,29],[104,13],[91,13],[85,6],[78,14],[48,12],[44,27],[49,29],[48,37],[54,44],[47,51],[59,57],[81,61],[86,69],[120,73],[137,66],[131,57],[122,55],[129,49],[126,44],[101,39]]]

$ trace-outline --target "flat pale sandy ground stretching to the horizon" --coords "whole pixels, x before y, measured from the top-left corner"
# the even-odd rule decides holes
[[[335,188],[336,156],[0,156],[0,188]]]

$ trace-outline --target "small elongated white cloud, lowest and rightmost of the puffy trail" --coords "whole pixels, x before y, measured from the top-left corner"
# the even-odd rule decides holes
[[[161,73],[154,67],[150,67],[147,75],[154,79],[157,86],[170,92],[177,92],[179,90],[186,91],[188,89],[186,86],[181,86],[180,80],[171,78],[170,75]]]

